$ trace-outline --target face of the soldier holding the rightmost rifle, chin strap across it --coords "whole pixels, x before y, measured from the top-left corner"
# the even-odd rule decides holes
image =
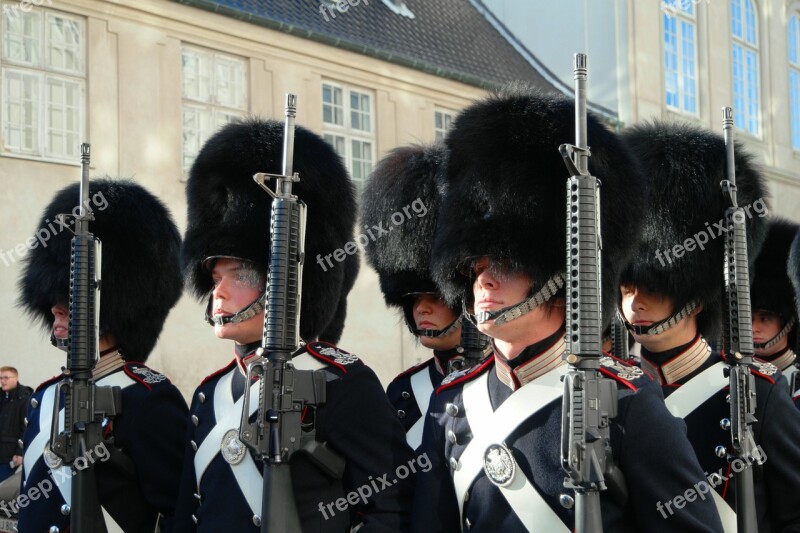
[[[622,313],[625,319],[634,326],[651,326],[672,315],[674,304],[670,298],[640,289],[634,285],[620,287],[622,296]],[[689,316],[683,318],[673,327],[657,335],[637,335],[632,333],[636,342],[651,352],[662,352],[691,341],[697,334],[697,314],[702,310],[698,306]]]

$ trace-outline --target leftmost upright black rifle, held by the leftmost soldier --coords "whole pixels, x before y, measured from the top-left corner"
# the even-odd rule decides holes
[[[70,530],[105,532],[105,521],[97,494],[97,481],[91,451],[108,444],[103,438],[103,420],[120,413],[121,389],[98,387],[92,370],[99,353],[100,319],[100,240],[89,231],[94,215],[89,205],[89,145],[81,144],[81,181],[78,198],[80,214],[60,214],[57,219],[71,230],[69,294],[69,351],[62,380],[56,386],[56,398],[64,393],[64,428],[59,428],[60,402],[53,406],[50,450],[72,468],[71,502],[62,508],[70,515]],[[67,221],[69,220],[69,223]],[[87,454],[87,452],[89,452]],[[77,466],[77,468],[76,468]]]

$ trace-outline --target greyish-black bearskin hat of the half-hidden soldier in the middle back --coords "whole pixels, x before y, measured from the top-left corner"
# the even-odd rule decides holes
[[[387,305],[402,307],[403,295],[411,292],[438,292],[430,275],[430,247],[441,198],[437,175],[445,160],[442,145],[397,148],[378,163],[364,188],[360,225],[373,234],[386,230],[365,251]]]

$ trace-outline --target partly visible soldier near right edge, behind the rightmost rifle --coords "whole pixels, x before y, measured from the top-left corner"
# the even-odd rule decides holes
[[[788,259],[789,247],[798,228],[788,220],[770,221],[767,238],[756,258],[750,280],[756,355],[778,367],[787,380],[792,397],[800,395],[800,382],[795,377],[800,363],[797,360],[800,327],[797,325],[794,288],[789,280]]]

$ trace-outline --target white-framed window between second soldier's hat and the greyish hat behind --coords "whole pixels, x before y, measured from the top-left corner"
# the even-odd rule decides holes
[[[357,188],[372,172],[375,127],[372,94],[361,89],[322,84],[323,137],[345,161]]]

